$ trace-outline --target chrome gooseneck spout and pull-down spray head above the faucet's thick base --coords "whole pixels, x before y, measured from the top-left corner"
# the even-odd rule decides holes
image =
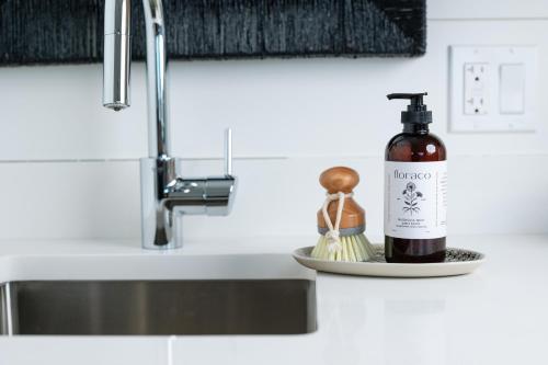
[[[167,98],[165,25],[161,0],[142,0],[147,42],[148,153],[170,156]],[[105,0],[103,105],[121,111],[130,105],[132,1]]]

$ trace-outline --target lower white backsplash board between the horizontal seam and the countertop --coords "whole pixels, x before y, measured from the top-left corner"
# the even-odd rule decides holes
[[[184,217],[186,238],[315,236],[324,192],[319,173],[335,164],[362,175],[356,201],[367,235],[383,235],[383,158],[237,160],[240,179],[228,217]],[[220,169],[220,161],[187,161],[189,174]],[[548,156],[454,157],[449,160],[448,231],[547,231]],[[510,172],[509,172],[510,171]],[[137,238],[137,161],[1,163],[2,238]]]

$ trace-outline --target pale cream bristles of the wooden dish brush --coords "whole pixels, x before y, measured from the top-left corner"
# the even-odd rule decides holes
[[[320,236],[310,255],[319,260],[349,262],[369,261],[375,256],[375,250],[363,233],[341,237],[341,250],[330,252],[328,239]]]

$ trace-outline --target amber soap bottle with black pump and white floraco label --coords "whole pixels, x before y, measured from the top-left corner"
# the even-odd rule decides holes
[[[408,99],[401,112],[403,132],[385,151],[385,256],[387,262],[427,263],[445,260],[447,152],[430,133],[432,112],[426,93],[396,93]]]

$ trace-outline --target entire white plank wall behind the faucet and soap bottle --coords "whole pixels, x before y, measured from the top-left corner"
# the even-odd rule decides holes
[[[536,133],[447,132],[449,45],[538,45],[546,104],[548,3],[458,4],[429,2],[420,58],[171,62],[174,155],[189,159],[190,175],[218,173],[222,129],[232,126],[241,182],[230,217],[187,218],[186,235],[315,235],[317,176],[347,164],[362,174],[357,199],[379,237],[383,152],[403,107],[385,95],[423,90],[449,151],[450,233],[548,232],[547,110]],[[0,238],[139,235],[144,76],[134,65],[133,105],[113,113],[101,106],[100,65],[0,68]]]

